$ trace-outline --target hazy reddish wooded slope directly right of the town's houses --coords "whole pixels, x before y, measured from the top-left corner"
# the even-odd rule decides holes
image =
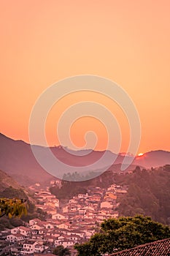
[[[128,184],[128,193],[120,198],[118,211],[123,216],[144,214],[170,225],[170,165],[115,176],[117,184]]]

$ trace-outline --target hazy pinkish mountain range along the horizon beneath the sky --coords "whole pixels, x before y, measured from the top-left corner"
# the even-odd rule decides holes
[[[49,148],[43,146],[34,146],[36,150],[41,152],[43,159],[47,159],[47,151]],[[62,146],[51,147],[50,150],[53,152],[54,156],[57,157],[61,162],[66,165],[71,166],[70,169],[74,167],[84,167],[87,165],[92,165],[98,159],[105,154],[104,160],[98,161],[98,164],[94,168],[90,168],[90,171],[98,172],[105,167],[107,170],[119,171],[120,165],[123,162],[124,156],[122,154],[116,155],[111,151],[72,151]],[[88,154],[87,154],[88,153]],[[111,159],[116,160],[114,165],[112,165]],[[128,156],[131,158],[131,156]],[[110,164],[111,163],[111,164]],[[151,151],[144,154],[142,157],[136,157],[134,159],[133,165],[139,165],[142,167],[150,168],[163,166],[170,163],[170,152],[168,151]],[[108,166],[111,166],[107,168]],[[133,168],[128,167],[131,170]],[[7,138],[5,135],[0,134],[0,169],[4,170],[9,176],[15,178],[19,184],[23,186],[28,186],[35,183],[40,183],[42,185],[48,185],[54,176],[47,173],[34,157],[31,151],[31,146],[22,140],[12,140]],[[70,170],[69,169],[69,170]],[[56,167],[58,175],[62,173],[68,173],[68,169],[61,170],[60,167]],[[61,173],[60,173],[61,172]]]

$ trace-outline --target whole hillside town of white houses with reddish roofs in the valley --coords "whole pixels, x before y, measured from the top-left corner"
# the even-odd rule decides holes
[[[61,181],[51,181],[51,186],[61,187]],[[77,255],[74,244],[88,241],[96,233],[100,223],[110,217],[117,218],[117,198],[128,187],[110,185],[107,189],[94,187],[85,194],[61,203],[47,189],[30,187],[36,197],[36,207],[47,212],[47,219],[31,219],[25,226],[3,230],[1,241],[5,242],[0,255],[50,255],[56,246],[68,247],[71,255]]]

